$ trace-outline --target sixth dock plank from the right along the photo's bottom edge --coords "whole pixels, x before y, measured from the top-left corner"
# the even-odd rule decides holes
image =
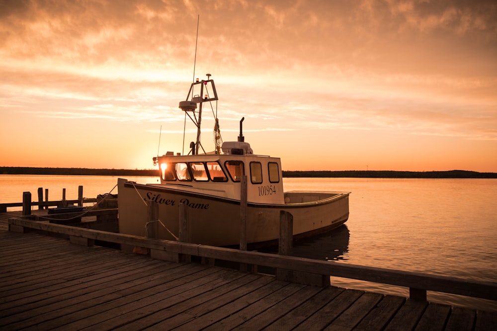
[[[364,293],[325,330],[352,330],[383,299],[383,294]]]

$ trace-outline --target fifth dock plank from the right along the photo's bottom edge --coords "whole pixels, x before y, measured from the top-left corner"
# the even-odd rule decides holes
[[[383,330],[405,302],[406,298],[386,295],[357,325],[355,330]]]

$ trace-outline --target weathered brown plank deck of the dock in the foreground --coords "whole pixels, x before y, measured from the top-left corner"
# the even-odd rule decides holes
[[[495,312],[10,232],[17,215],[0,213],[0,330],[497,330]]]

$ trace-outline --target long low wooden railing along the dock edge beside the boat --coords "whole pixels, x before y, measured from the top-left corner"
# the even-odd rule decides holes
[[[289,216],[285,214],[285,212],[281,212],[280,216],[284,219],[283,221],[280,220],[280,224],[284,224],[285,222],[288,223]],[[197,256],[202,258],[202,260],[205,259],[205,261],[210,262],[219,259],[246,265],[274,267],[279,270],[287,271],[286,275],[283,276],[284,280],[289,279],[288,274],[291,276],[292,273],[297,272],[301,275],[318,275],[318,278],[321,279],[329,279],[330,276],[335,276],[402,286],[410,289],[411,299],[417,300],[426,300],[426,291],[497,300],[497,283],[495,282],[468,280],[372,266],[350,265],[287,255],[198,245],[180,241],[145,238],[120,233],[83,229],[62,224],[52,224],[43,222],[42,220],[43,217],[39,217],[38,215],[9,218],[9,230],[15,232],[41,230],[54,234],[64,234],[69,236],[71,242],[80,245],[91,245],[95,240],[99,240],[141,247],[147,249],[150,252],[151,257],[169,261],[178,261],[178,257],[189,255]],[[286,229],[280,232],[288,233],[289,231]],[[302,279],[301,276],[299,277],[299,279]],[[327,285],[327,283],[325,282],[324,285]]]

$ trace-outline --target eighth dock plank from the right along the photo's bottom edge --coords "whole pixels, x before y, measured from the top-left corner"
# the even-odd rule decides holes
[[[309,300],[306,300],[289,314],[282,316],[263,330],[292,330],[297,325],[302,323],[302,321],[313,315],[316,311],[323,308],[344,290],[345,289],[343,288],[334,286],[321,289],[315,296]]]

